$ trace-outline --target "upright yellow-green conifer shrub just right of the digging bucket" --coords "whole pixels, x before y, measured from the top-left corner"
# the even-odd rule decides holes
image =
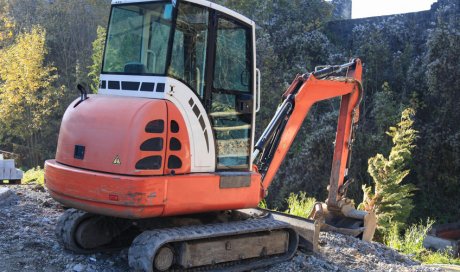
[[[398,125],[387,132],[393,140],[389,157],[377,154],[369,159],[368,172],[374,186],[363,185],[364,199],[360,207],[375,212],[378,231],[383,235],[392,228],[400,230],[414,208],[411,198],[415,186],[402,183],[409,174],[407,165],[417,137],[417,131],[412,128],[414,114],[411,108],[404,110]]]

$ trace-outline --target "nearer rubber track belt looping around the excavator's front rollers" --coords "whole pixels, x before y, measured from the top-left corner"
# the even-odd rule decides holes
[[[136,271],[153,272],[153,258],[156,252],[165,244],[218,237],[228,239],[229,236],[233,235],[280,229],[289,231],[289,247],[288,251],[283,255],[237,260],[191,269],[173,269],[173,271],[248,271],[291,259],[297,250],[299,242],[297,232],[289,224],[271,218],[145,231],[136,237],[129,248],[129,265]],[[228,264],[228,267],[226,264]]]

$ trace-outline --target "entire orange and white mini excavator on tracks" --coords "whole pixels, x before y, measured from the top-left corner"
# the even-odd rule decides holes
[[[347,199],[362,99],[354,59],[298,75],[258,141],[255,24],[204,0],[113,0],[97,95],[67,108],[51,196],[65,249],[129,247],[141,271],[247,271],[317,250],[320,228],[370,240],[375,216]],[[303,120],[341,98],[325,203],[310,219],[257,208]]]

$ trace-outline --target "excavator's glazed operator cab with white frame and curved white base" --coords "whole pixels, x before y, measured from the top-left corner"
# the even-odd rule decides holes
[[[171,101],[190,132],[191,172],[249,171],[254,23],[212,3],[118,2],[99,93]]]

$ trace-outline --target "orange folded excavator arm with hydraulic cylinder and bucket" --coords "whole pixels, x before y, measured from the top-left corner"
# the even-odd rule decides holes
[[[344,73],[345,76],[335,76]],[[365,240],[371,240],[375,230],[375,216],[355,210],[351,201],[345,198],[346,187],[351,181],[348,179],[348,168],[354,128],[358,122],[359,104],[363,97],[361,79],[362,63],[359,59],[297,76],[257,142],[252,158],[258,159],[256,164],[263,177],[263,187],[267,190],[311,107],[319,101],[341,97],[329,196],[326,205],[315,206],[312,217],[324,219],[325,226],[327,225],[325,229],[362,235]],[[351,221],[348,220],[350,217]],[[356,227],[358,225],[354,219],[363,221],[363,224]],[[344,224],[344,221],[350,222]],[[354,226],[354,230],[350,231],[350,224]]]

